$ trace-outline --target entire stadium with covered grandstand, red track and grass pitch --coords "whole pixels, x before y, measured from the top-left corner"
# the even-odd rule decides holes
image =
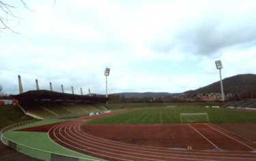
[[[107,104],[109,96],[40,90],[38,80],[23,92],[18,79],[8,108],[29,119],[2,128],[1,142],[19,160],[256,160],[252,100]]]

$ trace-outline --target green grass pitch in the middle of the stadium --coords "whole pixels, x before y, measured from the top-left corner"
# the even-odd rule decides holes
[[[130,111],[113,115],[109,118],[93,120],[88,124],[170,124],[181,123],[180,113],[208,113],[209,120],[212,123],[224,122],[256,122],[256,112],[237,111],[233,109],[212,109],[201,105],[163,108],[150,107],[142,109],[132,109]],[[197,116],[195,116],[197,117]],[[193,122],[206,122],[201,115],[193,118]]]

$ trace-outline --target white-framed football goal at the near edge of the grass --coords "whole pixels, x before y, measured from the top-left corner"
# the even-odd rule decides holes
[[[208,113],[180,113],[181,123],[209,122]]]

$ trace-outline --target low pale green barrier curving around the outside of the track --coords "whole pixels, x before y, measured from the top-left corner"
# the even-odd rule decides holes
[[[1,136],[1,142],[8,147],[11,147],[12,149],[15,149],[16,151],[19,151],[22,154],[25,154],[26,156],[30,156],[32,158],[37,158],[40,160],[47,160],[47,161],[100,161],[100,160],[93,160],[89,158],[79,158],[75,156],[68,156],[64,154],[57,154],[51,151],[46,151],[34,147],[29,147],[27,145],[24,145],[22,143],[17,143],[16,141],[13,141],[11,139],[8,139],[4,136],[5,132],[16,130],[18,128],[21,128],[21,126],[33,124],[35,122],[40,122],[42,120],[29,120],[25,122],[19,122],[17,124],[12,124],[10,126],[6,126],[0,131]]]

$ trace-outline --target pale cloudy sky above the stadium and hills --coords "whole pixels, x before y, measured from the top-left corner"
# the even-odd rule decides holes
[[[256,73],[256,1],[18,0],[0,31],[3,92],[184,92]],[[0,12],[0,16],[4,16]]]

